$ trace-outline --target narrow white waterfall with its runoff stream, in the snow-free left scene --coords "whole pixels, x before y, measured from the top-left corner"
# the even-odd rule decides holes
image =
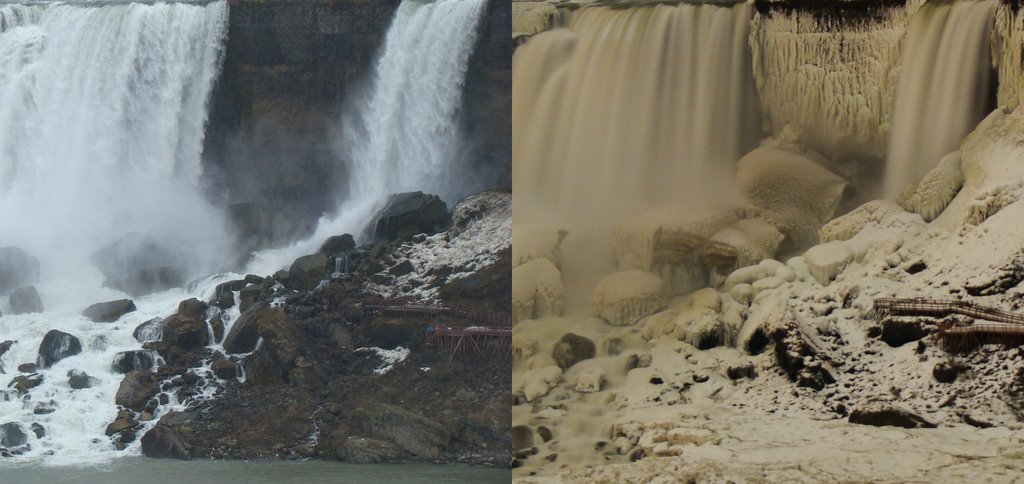
[[[404,0],[398,6],[371,89],[365,97],[346,99],[336,146],[348,168],[346,201],[306,240],[257,255],[250,272],[271,273],[315,252],[331,235],[360,237],[390,193],[436,193],[450,205],[468,194],[461,179],[465,140],[459,116],[485,4]]]

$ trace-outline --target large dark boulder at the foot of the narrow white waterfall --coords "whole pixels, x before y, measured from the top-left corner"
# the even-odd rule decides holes
[[[417,233],[437,233],[450,222],[447,206],[439,196],[411,191],[388,196],[369,229],[374,237],[391,240]]]

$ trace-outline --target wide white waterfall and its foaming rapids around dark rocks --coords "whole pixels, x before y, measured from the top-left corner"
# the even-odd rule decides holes
[[[40,259],[41,314],[0,317],[0,341],[17,343],[0,358],[6,387],[20,363],[35,362],[43,335],[78,337],[83,352],[41,371],[31,398],[0,401],[0,424],[41,424],[32,450],[0,464],[96,463],[122,454],[103,435],[117,412],[122,376],[114,355],[138,349],[132,329],[174,312],[188,297],[209,297],[208,278],[193,294],[172,290],[135,298],[136,312],[116,323],[79,314],[91,303],[125,297],[101,287],[93,252],[128,232],[187,248],[191,274],[226,254],[220,214],[199,180],[207,101],[226,35],[227,4],[39,3],[0,6],[0,247]],[[0,308],[8,313],[6,296]],[[98,379],[72,390],[70,369]],[[2,400],[2,399],[0,399]],[[37,402],[56,410],[34,414]],[[43,457],[47,452],[52,455]],[[129,453],[137,453],[137,442]]]

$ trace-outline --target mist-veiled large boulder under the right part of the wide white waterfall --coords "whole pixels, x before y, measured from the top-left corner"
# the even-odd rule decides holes
[[[132,232],[100,249],[92,262],[103,273],[103,284],[142,296],[184,283],[186,248]]]

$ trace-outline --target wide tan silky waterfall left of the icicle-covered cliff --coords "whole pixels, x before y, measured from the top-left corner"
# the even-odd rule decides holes
[[[584,7],[513,55],[516,220],[723,195],[758,139],[753,7]],[[728,178],[730,182],[718,183]],[[554,218],[553,218],[554,217]]]

